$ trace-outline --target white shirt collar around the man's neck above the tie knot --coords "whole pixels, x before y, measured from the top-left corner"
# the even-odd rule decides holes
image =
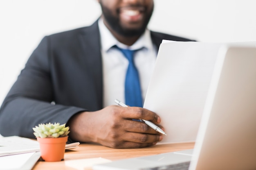
[[[117,41],[117,39],[112,35],[112,33],[108,30],[108,28],[103,23],[103,19],[99,19],[99,32],[101,36],[101,50],[107,52],[112,46],[119,46],[120,48],[137,50],[139,48],[146,48],[148,50],[153,49],[153,44],[151,41],[150,31],[148,29],[139,37],[139,39],[132,44],[132,46],[127,46]]]

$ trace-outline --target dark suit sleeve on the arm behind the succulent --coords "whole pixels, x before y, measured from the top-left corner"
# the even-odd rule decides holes
[[[49,42],[43,38],[11,87],[0,108],[0,134],[34,138],[32,127],[67,121],[86,109],[54,104]]]

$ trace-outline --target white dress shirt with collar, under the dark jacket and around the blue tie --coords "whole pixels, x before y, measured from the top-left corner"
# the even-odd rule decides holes
[[[125,102],[124,86],[129,62],[120,50],[111,48],[114,45],[130,50],[144,47],[137,51],[134,56],[135,65],[139,72],[142,102],[144,103],[157,56],[156,47],[151,41],[150,31],[146,29],[145,33],[132,46],[126,46],[117,41],[102,19],[99,19],[99,32],[103,65],[103,107],[116,105],[115,99]]]

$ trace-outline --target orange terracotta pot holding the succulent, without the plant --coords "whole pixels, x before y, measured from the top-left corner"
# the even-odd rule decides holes
[[[61,161],[64,159],[66,137],[40,138],[37,137],[40,144],[40,152],[43,160],[47,162]]]

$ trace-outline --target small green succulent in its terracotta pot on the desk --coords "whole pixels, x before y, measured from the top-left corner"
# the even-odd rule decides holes
[[[41,157],[45,161],[61,161],[64,159],[67,135],[70,132],[66,124],[48,123],[34,127],[34,135],[40,144]]]

